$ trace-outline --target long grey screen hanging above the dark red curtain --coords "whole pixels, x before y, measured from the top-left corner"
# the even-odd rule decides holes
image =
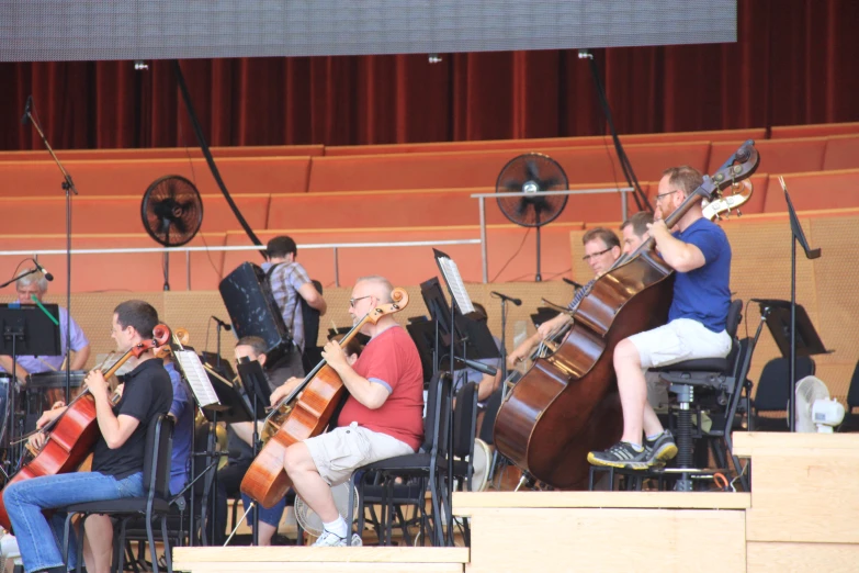
[[[449,54],[736,42],[736,0],[3,0],[0,60]]]

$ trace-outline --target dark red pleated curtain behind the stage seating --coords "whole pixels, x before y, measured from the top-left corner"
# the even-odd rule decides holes
[[[738,42],[598,49],[624,133],[859,121],[859,2],[739,0]],[[184,60],[210,144],[360,145],[604,133],[577,50]],[[168,61],[0,64],[0,149],[196,145]]]

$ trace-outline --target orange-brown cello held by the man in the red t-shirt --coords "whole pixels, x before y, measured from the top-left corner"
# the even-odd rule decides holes
[[[349,344],[366,323],[376,324],[383,316],[397,313],[408,305],[408,293],[404,289],[394,289],[391,299],[393,302],[380,304],[361,318],[340,340],[340,347]],[[282,499],[292,485],[283,468],[286,448],[325,431],[331,415],[344,398],[346,386],[335,369],[321,360],[295,390],[272,408],[265,423],[271,423],[272,417],[287,407],[298,394],[285,420],[262,447],[241,480],[241,493],[265,508]]]

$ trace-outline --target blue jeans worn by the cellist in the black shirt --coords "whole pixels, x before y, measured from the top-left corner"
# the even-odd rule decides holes
[[[3,491],[3,502],[12,521],[21,559],[27,573],[64,565],[63,532],[66,514],[48,520],[43,509],[70,504],[143,496],[143,472],[123,480],[99,472],[45,475],[13,483]],[[52,542],[53,541],[53,542]],[[68,569],[77,565],[76,543],[69,539]]]

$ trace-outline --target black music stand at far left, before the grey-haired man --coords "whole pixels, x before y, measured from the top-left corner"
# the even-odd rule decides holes
[[[7,429],[9,431],[10,456],[7,458],[7,463],[11,463],[13,458],[20,458],[23,449],[23,446],[19,446],[12,451],[18,357],[60,355],[58,317],[59,307],[56,304],[43,304],[41,307],[33,304],[0,304],[0,334],[2,334],[0,355],[12,357],[12,380],[7,389],[7,412],[3,427],[0,428],[0,443],[3,442],[2,438]],[[20,423],[23,424],[23,422],[22,418]]]

